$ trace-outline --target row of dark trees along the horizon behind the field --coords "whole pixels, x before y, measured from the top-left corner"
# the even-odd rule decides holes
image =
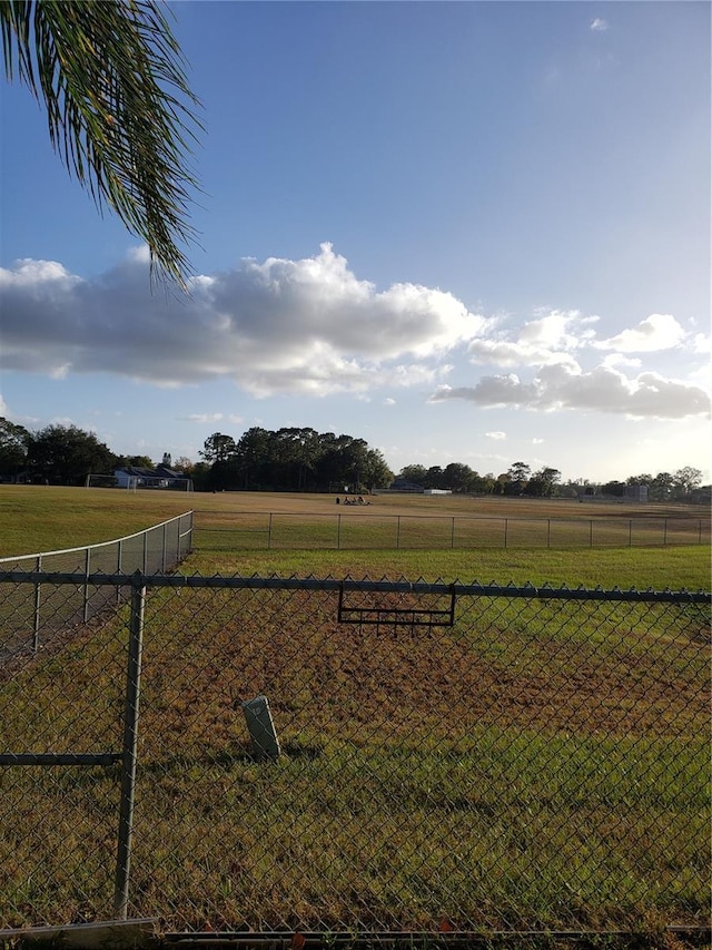
[[[176,471],[200,491],[333,491],[363,493],[395,484],[464,494],[526,498],[575,498],[580,494],[624,497],[627,486],[647,486],[651,501],[708,501],[710,486],[702,472],[686,466],[675,472],[650,472],[604,483],[562,482],[558,469],[532,471],[523,461],[500,474],[479,474],[463,462],[442,468],[405,466],[397,476],[377,449],[364,439],[314,429],[258,427],[239,439],[214,432],[204,443],[200,461],[179,458]],[[117,468],[152,469],[147,456],[120,456],[92,432],[76,425],[47,425],[30,432],[0,418],[0,480],[83,484],[87,474],[110,474]],[[394,481],[395,479],[395,481]]]

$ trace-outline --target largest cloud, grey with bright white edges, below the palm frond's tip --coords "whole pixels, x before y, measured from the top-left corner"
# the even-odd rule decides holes
[[[444,291],[377,291],[328,244],[309,258],[243,261],[151,295],[139,251],[96,281],[53,262],[0,270],[2,364],[111,373],[157,385],[230,378],[254,395],[432,384],[442,356],[488,325]]]

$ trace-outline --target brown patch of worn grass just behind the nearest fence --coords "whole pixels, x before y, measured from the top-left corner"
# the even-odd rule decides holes
[[[202,597],[189,605],[184,594],[174,605],[178,616],[192,615],[194,630]],[[495,600],[485,616],[463,607],[454,629],[427,629],[338,624],[327,594],[245,597],[251,607],[245,604],[237,616],[229,599],[217,598],[224,605],[217,608],[214,599],[209,619],[202,615],[205,652],[198,655],[195,636],[187,643],[178,629],[171,640],[165,623],[160,646],[148,638],[146,682],[160,669],[161,688],[175,696],[160,703],[161,715],[174,728],[189,722],[202,728],[208,707],[217,741],[219,723],[233,723],[236,704],[257,693],[268,694],[293,727],[308,723],[362,737],[369,724],[403,734],[453,718],[461,734],[483,724],[616,736],[705,727],[710,696],[706,649],[694,638],[699,625],[669,626],[664,636],[651,629],[646,637],[636,605],[627,605],[627,624],[589,618],[594,638],[581,634],[571,610],[568,628],[557,635],[527,633],[522,607],[507,626]],[[397,603],[423,606],[407,596]],[[681,615],[669,619],[680,623]],[[654,618],[647,620],[654,627]]]

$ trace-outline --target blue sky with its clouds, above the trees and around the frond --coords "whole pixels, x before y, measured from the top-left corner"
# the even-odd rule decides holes
[[[190,298],[2,85],[0,414],[710,478],[710,6],[180,2]]]

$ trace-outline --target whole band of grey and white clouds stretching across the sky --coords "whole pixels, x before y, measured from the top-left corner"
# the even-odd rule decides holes
[[[365,398],[409,386],[437,403],[657,419],[710,412],[704,382],[696,384],[704,376],[693,368],[709,341],[672,314],[650,314],[609,336],[597,333],[597,316],[575,310],[538,311],[507,327],[442,290],[400,283],[378,291],[329,244],[314,257],[248,258],[197,276],[190,297],[151,294],[147,267],[138,251],[96,280],[57,262],[0,270],[0,366],[162,386],[231,379],[254,396]],[[686,360],[678,373],[686,379],[662,373],[660,354]],[[445,384],[454,372],[465,384]],[[383,394],[382,403],[393,399]]]

